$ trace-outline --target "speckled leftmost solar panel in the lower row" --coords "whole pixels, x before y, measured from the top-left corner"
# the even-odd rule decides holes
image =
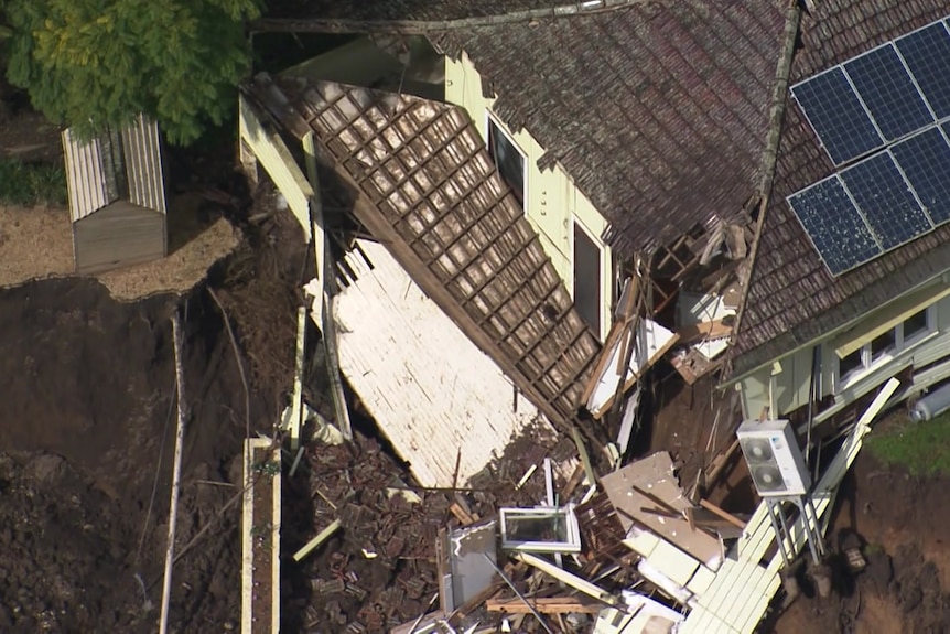
[[[838,176],[789,196],[788,204],[831,275],[843,273],[881,255],[881,247]]]

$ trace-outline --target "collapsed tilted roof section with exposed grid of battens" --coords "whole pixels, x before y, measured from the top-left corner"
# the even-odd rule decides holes
[[[561,430],[600,351],[468,114],[302,78],[246,87],[360,194],[359,221]],[[454,455],[454,453],[453,453]]]

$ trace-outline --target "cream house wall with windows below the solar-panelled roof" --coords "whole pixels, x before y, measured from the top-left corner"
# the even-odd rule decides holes
[[[834,405],[822,411],[817,420],[821,421],[841,410],[857,398],[868,394],[885,380],[907,367],[921,368],[936,364],[950,356],[950,297],[937,300],[933,307],[935,332],[916,345],[897,353],[890,359],[874,365],[850,380],[846,386],[836,384],[838,358],[834,352],[834,336],[829,336],[821,345],[821,395],[834,395]],[[883,308],[886,310],[886,307]],[[870,315],[868,315],[870,316]],[[742,395],[743,415],[758,418],[763,408],[769,407],[776,416],[789,412],[808,404],[811,382],[811,346],[778,359],[773,367],[762,368],[740,380],[736,388]],[[902,397],[919,393],[935,383],[950,377],[950,363],[942,367],[928,368],[916,376],[911,385],[903,385]]]

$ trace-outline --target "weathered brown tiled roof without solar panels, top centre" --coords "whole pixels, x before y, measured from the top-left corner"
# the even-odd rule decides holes
[[[732,219],[756,193],[787,4],[645,1],[430,39],[468,54],[498,116],[546,148],[629,255]]]

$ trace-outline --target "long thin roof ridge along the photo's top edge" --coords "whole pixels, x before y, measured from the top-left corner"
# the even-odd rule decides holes
[[[265,18],[249,24],[256,33],[398,33],[424,35],[432,31],[454,31],[478,26],[495,26],[516,22],[530,22],[542,18],[568,18],[607,13],[646,4],[649,0],[565,0],[543,9],[526,9],[495,15],[457,18],[454,20],[335,20],[307,18]]]

